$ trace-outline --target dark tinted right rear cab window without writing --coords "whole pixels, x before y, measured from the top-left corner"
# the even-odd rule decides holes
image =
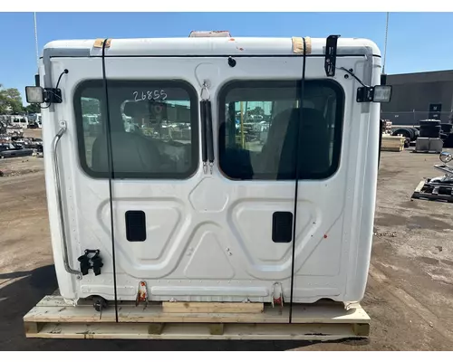
[[[333,175],[341,150],[342,88],[305,81],[302,114],[300,95],[300,81],[235,81],[220,91],[219,161],[226,176],[295,179],[296,159],[300,178]]]

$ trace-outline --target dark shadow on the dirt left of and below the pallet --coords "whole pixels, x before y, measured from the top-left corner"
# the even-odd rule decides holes
[[[21,278],[2,288],[7,280]],[[0,274],[0,350],[288,350],[313,345],[304,341],[96,340],[24,337],[24,315],[57,289],[53,265],[34,271]]]

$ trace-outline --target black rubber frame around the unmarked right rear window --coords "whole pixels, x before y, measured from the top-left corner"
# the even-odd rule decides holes
[[[335,121],[333,123],[333,159],[329,169],[323,173],[312,173],[310,175],[300,175],[298,180],[324,180],[331,178],[340,167],[340,161],[342,158],[342,131],[344,126],[344,110],[345,110],[345,92],[338,81],[331,79],[309,79],[305,80],[305,90],[307,83],[313,85],[327,85],[328,88],[332,89],[336,95],[336,108],[335,108]],[[226,174],[226,171],[222,168],[222,157],[226,153],[226,97],[230,90],[237,88],[288,88],[295,87],[297,99],[300,99],[302,80],[244,80],[236,79],[233,81],[226,82],[222,88],[218,91],[217,105],[218,105],[218,138],[217,138],[217,151],[218,151],[218,168],[223,176],[231,181],[277,181],[277,182],[288,182],[295,181],[294,178],[277,178],[275,174],[254,174],[252,176],[242,175],[241,177],[233,177]],[[255,176],[258,176],[255,178]]]

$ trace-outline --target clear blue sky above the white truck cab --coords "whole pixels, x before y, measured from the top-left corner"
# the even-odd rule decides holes
[[[33,13],[0,13],[0,83],[34,83]],[[228,30],[233,36],[369,38],[383,53],[385,13],[37,13],[40,53],[58,39],[188,36],[191,30]],[[453,68],[453,13],[390,13],[386,72]]]

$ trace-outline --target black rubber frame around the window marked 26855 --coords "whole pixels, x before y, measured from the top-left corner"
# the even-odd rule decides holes
[[[83,172],[95,179],[108,179],[110,177],[109,172],[94,171],[87,164],[86,148],[84,139],[84,128],[83,128],[83,113],[82,113],[82,94],[83,90],[90,88],[99,88],[103,90],[104,81],[101,79],[90,79],[82,81],[75,87],[72,106],[74,111],[74,121],[76,125],[76,138],[77,138],[77,153],[79,157],[79,165],[82,167]],[[197,90],[188,81],[183,80],[108,80],[108,86],[121,87],[156,87],[165,88],[179,88],[188,92],[188,100],[190,102],[190,145],[191,145],[191,165],[188,170],[182,172],[166,172],[166,173],[149,173],[149,172],[118,172],[113,170],[112,178],[115,179],[146,179],[146,180],[188,180],[192,178],[199,168],[199,117],[198,117],[198,93]],[[105,94],[105,92],[104,92]],[[100,101],[101,114],[105,114],[105,95],[102,96]],[[120,105],[119,105],[120,107]],[[194,121],[195,120],[195,121]],[[102,129],[105,129],[105,123],[101,124]],[[126,132],[126,131],[125,131]]]

